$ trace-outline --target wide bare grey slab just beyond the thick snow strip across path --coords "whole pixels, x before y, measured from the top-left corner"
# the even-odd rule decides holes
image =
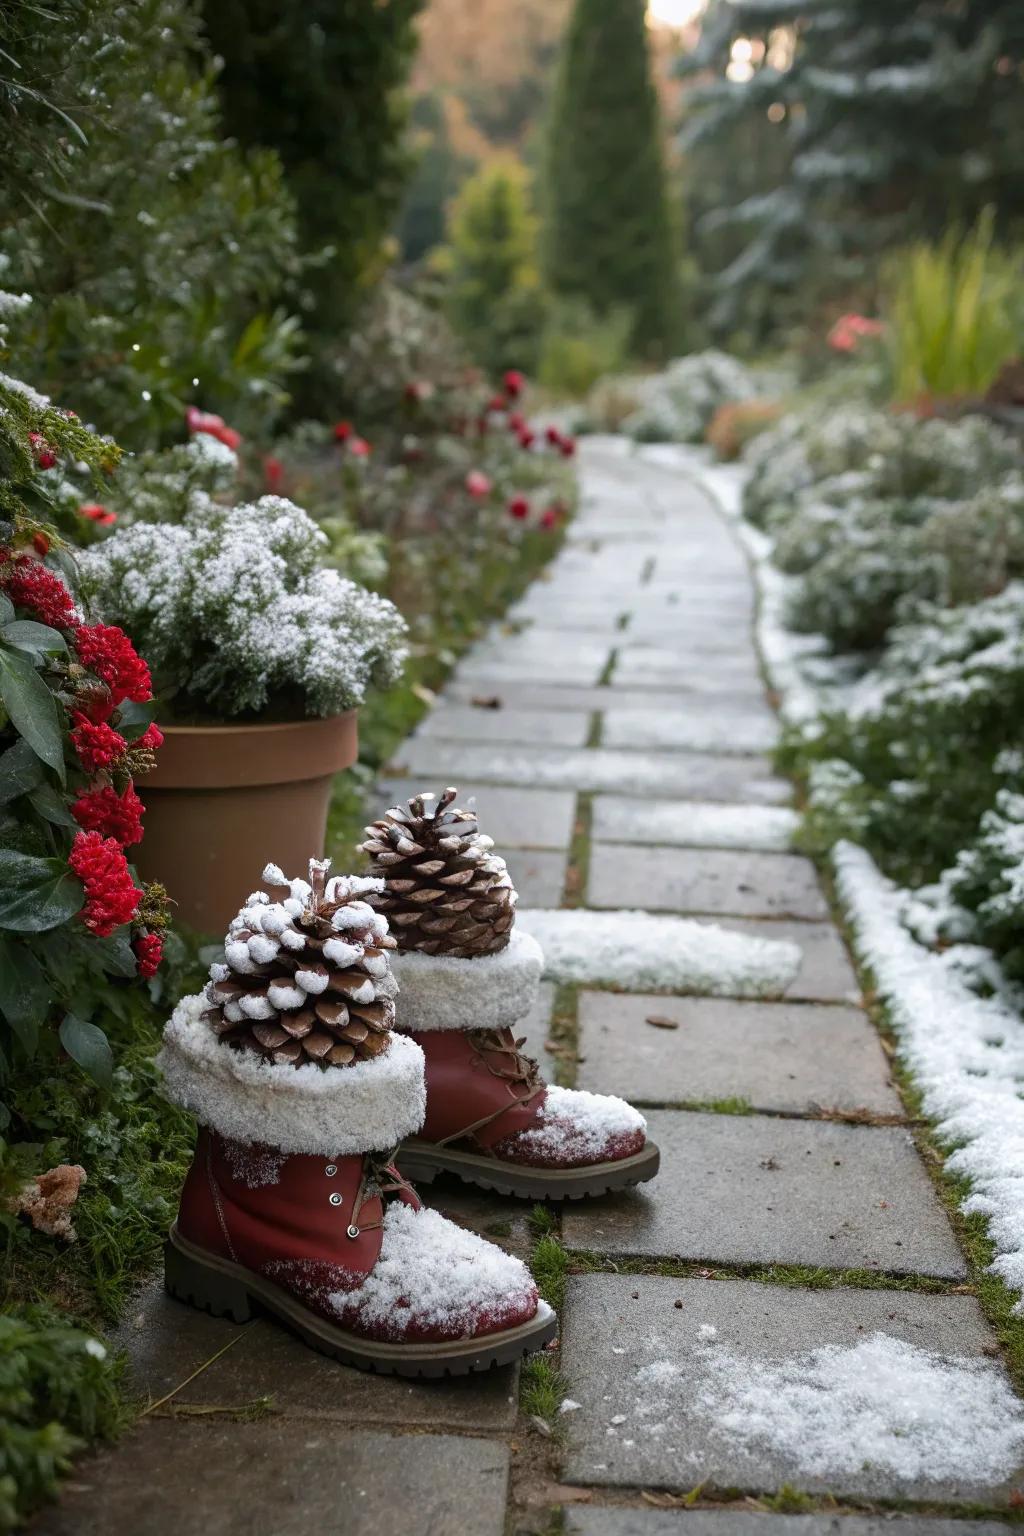
[[[809,859],[732,848],[594,843],[586,900],[590,906],[639,906],[657,912],[735,912],[738,917],[808,920],[829,915]]]

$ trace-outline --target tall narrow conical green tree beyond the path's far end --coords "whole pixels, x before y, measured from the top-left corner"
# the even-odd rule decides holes
[[[576,0],[548,123],[545,192],[551,289],[586,300],[597,315],[628,307],[637,352],[671,352],[679,270],[645,0]]]

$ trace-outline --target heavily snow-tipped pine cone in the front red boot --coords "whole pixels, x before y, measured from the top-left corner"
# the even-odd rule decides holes
[[[221,1040],[270,1061],[352,1066],[388,1048],[395,994],[387,919],[367,905],[379,880],[335,877],[310,860],[310,880],[286,880],[267,865],[284,902],[249,897],[224,940],[226,965],[210,966],[206,1014]]]

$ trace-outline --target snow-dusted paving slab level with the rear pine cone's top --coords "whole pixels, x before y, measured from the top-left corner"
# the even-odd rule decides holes
[[[599,794],[591,833],[605,843],[788,852],[798,826],[800,816],[783,805],[634,800],[629,796]]]

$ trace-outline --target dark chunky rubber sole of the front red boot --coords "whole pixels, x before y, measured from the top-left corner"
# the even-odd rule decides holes
[[[230,1318],[232,1322],[249,1322],[267,1312],[321,1355],[382,1376],[436,1379],[510,1366],[524,1355],[543,1349],[559,1326],[551,1307],[540,1301],[528,1322],[481,1338],[441,1344],[382,1344],[364,1339],[310,1312],[263,1275],[204,1252],[183,1238],[177,1227],[170,1229],[164,1244],[164,1286],[177,1301],[215,1318]]]

